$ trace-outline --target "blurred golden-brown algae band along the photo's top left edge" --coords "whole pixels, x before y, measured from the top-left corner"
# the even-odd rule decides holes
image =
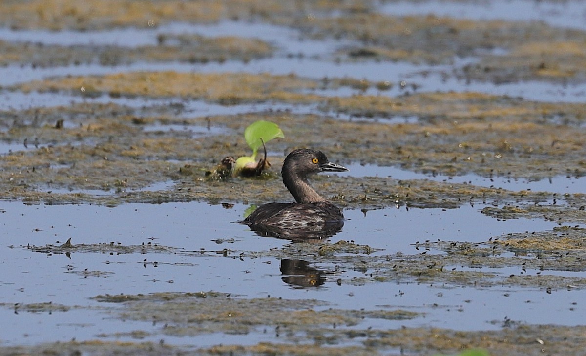
[[[165,2],[98,0],[82,4],[74,0],[9,2],[0,22],[13,29],[104,30],[111,28],[156,28],[169,22],[213,23],[222,19],[296,18],[308,11],[360,11],[363,1],[331,2],[302,0],[204,0]]]

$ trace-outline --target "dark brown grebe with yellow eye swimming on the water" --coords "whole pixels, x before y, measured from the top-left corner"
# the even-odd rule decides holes
[[[319,172],[343,172],[346,167],[328,161],[323,152],[301,148],[293,150],[281,169],[283,183],[297,203],[268,203],[253,211],[243,224],[275,228],[315,227],[343,224],[342,210],[325,200],[308,183]]]

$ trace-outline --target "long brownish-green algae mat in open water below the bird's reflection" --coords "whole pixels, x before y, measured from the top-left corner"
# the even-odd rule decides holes
[[[335,326],[355,326],[363,318],[407,320],[421,316],[407,310],[323,309],[313,299],[242,299],[217,292],[152,293],[150,295],[96,296],[98,302],[124,303],[121,319],[164,323],[164,334],[195,336],[224,332],[246,334],[258,327],[276,327],[278,333],[297,333]],[[320,310],[316,310],[319,308]]]

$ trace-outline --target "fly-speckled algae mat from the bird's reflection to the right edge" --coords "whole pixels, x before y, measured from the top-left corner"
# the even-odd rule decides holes
[[[567,231],[574,229],[577,228],[506,234],[477,243],[417,242],[414,245],[417,254],[397,252],[329,262],[342,269],[361,272],[342,281],[352,285],[418,282],[468,287],[516,286],[547,293],[582,289],[586,287],[586,279],[571,273],[584,271],[582,261],[586,258],[581,231]],[[428,254],[428,251],[443,253]],[[309,261],[317,262],[311,258]]]

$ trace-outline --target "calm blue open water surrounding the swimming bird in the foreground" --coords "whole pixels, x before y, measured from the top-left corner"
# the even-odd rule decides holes
[[[424,312],[423,318],[406,321],[367,319],[363,327],[394,328],[433,326],[463,330],[499,328],[505,317],[526,323],[580,324],[586,315],[579,302],[580,292],[518,287],[471,288],[444,283],[369,283],[355,286],[336,283],[362,273],[337,271],[326,273],[325,283],[318,288],[299,289],[289,285],[279,271],[275,258],[233,258],[240,252],[267,251],[289,244],[276,238],[264,238],[248,231],[240,220],[246,206],[232,208],[206,203],[169,203],[158,205],[124,204],[108,208],[89,205],[27,206],[19,202],[1,203],[2,222],[0,259],[4,265],[0,284],[5,303],[52,302],[66,306],[100,307],[90,297],[98,294],[152,293],[217,290],[245,297],[286,297],[328,301],[327,307],[353,309],[356,301],[367,310],[385,306]],[[479,212],[480,207],[458,209],[387,208],[368,211],[346,211],[348,221],[332,242],[352,240],[389,254],[401,251],[417,254],[416,242],[425,240],[483,242],[506,232],[548,230],[553,222],[531,220],[498,221]],[[482,230],[478,226],[482,225]],[[105,243],[122,245],[160,244],[176,248],[175,253],[73,252],[46,254],[27,249],[28,245],[59,245],[71,238],[73,244]],[[222,249],[231,250],[223,256]],[[203,252],[200,252],[203,251]],[[430,251],[442,254],[442,251]],[[299,256],[303,258],[303,256]],[[156,263],[155,263],[156,262]],[[460,268],[460,266],[456,266]],[[334,271],[335,266],[321,263],[312,266]],[[92,272],[90,274],[87,274]],[[523,273],[521,268],[483,269],[503,275]],[[535,273],[535,271],[525,271]],[[547,273],[545,271],[544,273]],[[567,276],[584,273],[552,272]],[[505,296],[506,294],[506,296]],[[531,302],[527,302],[530,300]],[[536,311],[540,313],[536,313]],[[38,343],[43,340],[87,340],[112,331],[151,330],[148,323],[111,319],[100,309],[53,311],[47,315],[13,310],[4,314],[3,341],[8,344]],[[105,314],[106,313],[106,314]],[[111,313],[111,311],[110,311]],[[496,324],[492,324],[496,321]],[[30,330],[31,324],[42,326]],[[156,334],[154,339],[160,338]],[[125,339],[128,337],[122,337]],[[167,337],[165,337],[167,338]],[[255,336],[249,336],[248,341]],[[263,336],[261,340],[270,339]],[[173,338],[167,341],[171,341]],[[157,339],[158,340],[158,339]],[[193,343],[199,338],[172,340]],[[246,343],[242,336],[214,334],[206,344],[222,342]]]

